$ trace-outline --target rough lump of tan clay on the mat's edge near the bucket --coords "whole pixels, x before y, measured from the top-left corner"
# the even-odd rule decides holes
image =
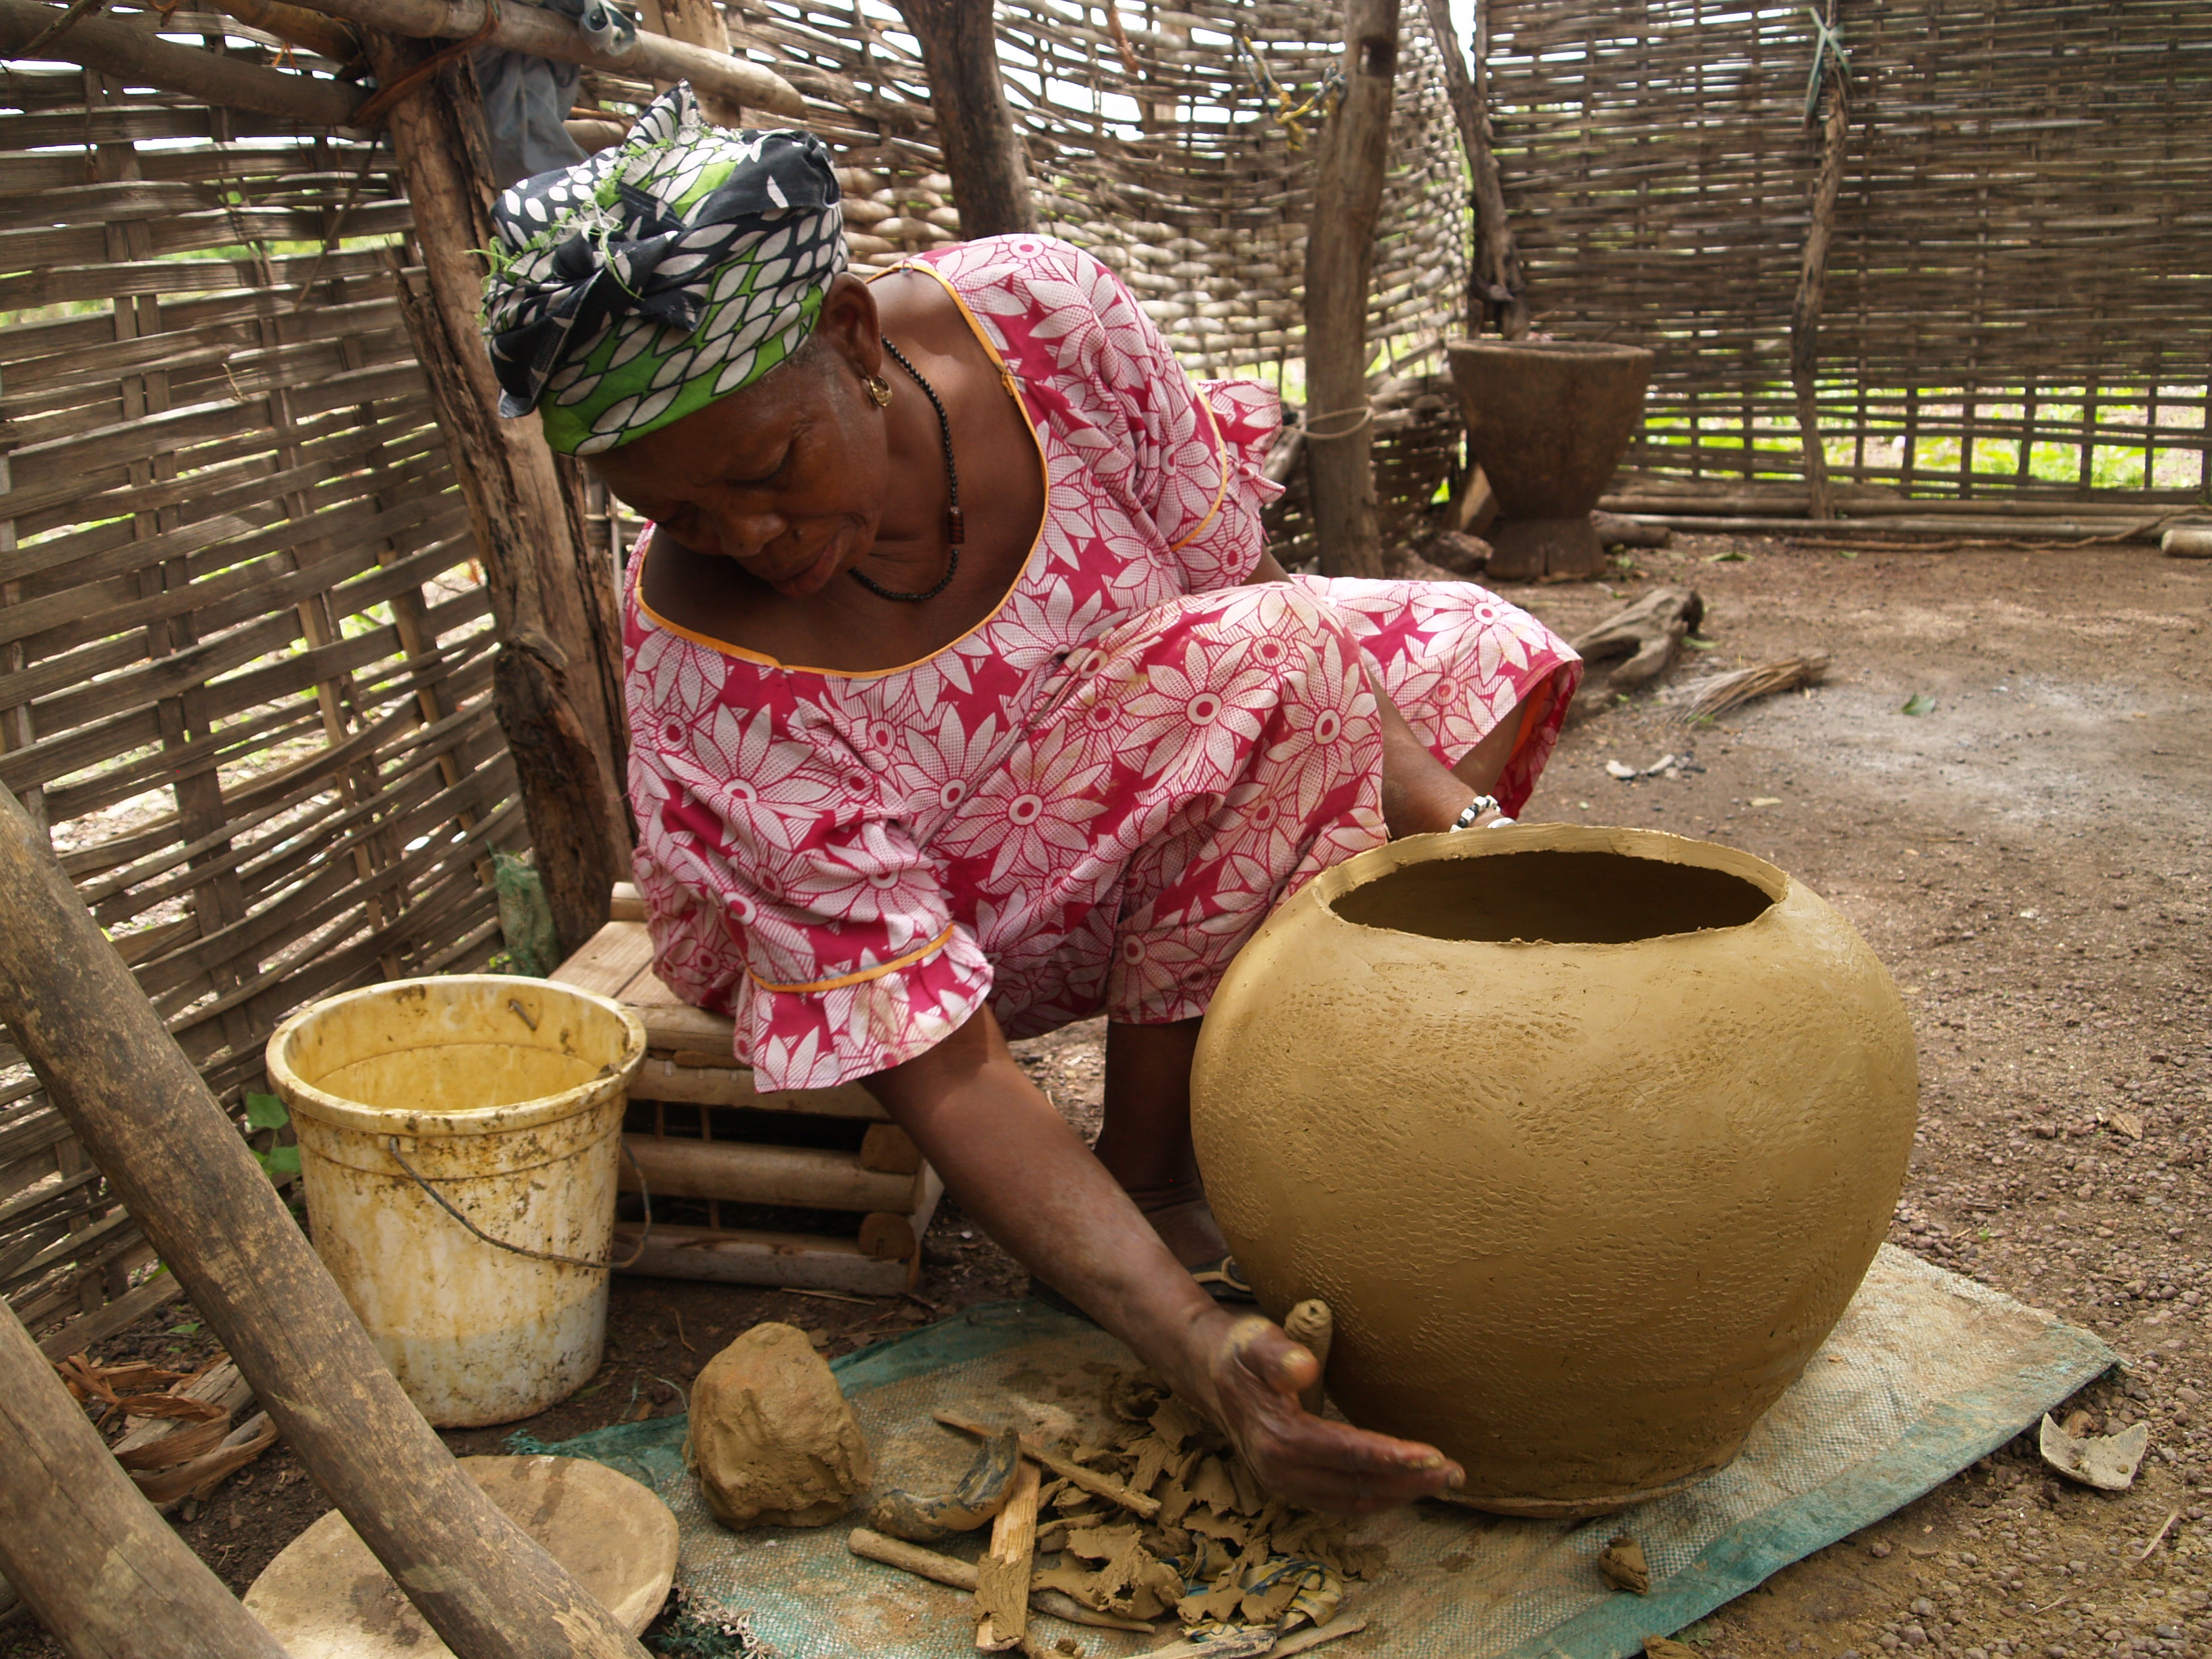
[[[792,1325],[754,1325],[706,1363],[684,1464],[723,1526],[827,1526],[874,1475],[860,1420]]]

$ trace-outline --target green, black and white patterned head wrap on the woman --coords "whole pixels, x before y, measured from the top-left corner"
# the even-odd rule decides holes
[[[500,414],[595,456],[748,387],[814,330],[845,230],[812,133],[728,133],[688,84],[630,137],[491,210]]]

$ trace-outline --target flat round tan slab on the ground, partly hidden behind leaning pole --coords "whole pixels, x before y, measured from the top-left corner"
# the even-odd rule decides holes
[[[460,1467],[633,1635],[653,1624],[677,1573],[677,1517],[648,1486],[582,1458]],[[292,1659],[451,1657],[338,1511],[285,1544],[246,1608]]]

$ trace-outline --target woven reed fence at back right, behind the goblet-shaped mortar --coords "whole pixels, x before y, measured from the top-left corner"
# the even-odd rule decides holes
[[[1818,131],[1803,4],[1484,0],[1540,327],[1659,352],[1630,465],[1798,471],[1790,305]],[[1843,478],[2203,500],[2212,31],[2157,0],[1840,0],[1820,319]]]

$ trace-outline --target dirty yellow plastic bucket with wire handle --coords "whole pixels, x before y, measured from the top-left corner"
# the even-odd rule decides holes
[[[500,973],[347,991],[270,1037],[316,1254],[431,1422],[526,1418],[599,1369],[644,1057],[622,1004]]]

